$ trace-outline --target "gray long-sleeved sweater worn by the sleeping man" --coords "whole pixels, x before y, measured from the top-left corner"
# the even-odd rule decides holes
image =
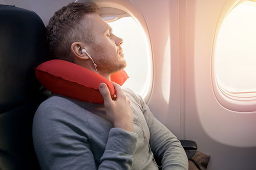
[[[152,152],[163,169],[188,169],[179,140],[139,95],[123,91],[131,101],[134,132],[114,128],[99,116],[105,114],[103,104],[56,94],[41,103],[33,120],[33,142],[41,169],[158,169]]]

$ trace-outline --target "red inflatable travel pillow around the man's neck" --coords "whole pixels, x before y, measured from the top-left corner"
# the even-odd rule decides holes
[[[115,95],[112,83],[87,68],[65,60],[50,60],[35,68],[36,78],[49,91],[91,103],[104,103],[99,84],[105,83],[111,97]],[[128,79],[121,70],[111,76],[111,81],[120,86]]]

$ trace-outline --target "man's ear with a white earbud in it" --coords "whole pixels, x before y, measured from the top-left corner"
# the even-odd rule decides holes
[[[87,60],[89,57],[82,53],[82,50],[86,48],[82,42],[73,42],[71,44],[71,53],[74,56],[74,59]],[[87,50],[87,49],[86,49]]]

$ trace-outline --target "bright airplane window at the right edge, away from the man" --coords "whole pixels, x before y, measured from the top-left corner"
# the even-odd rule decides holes
[[[244,1],[226,16],[217,36],[215,74],[224,93],[256,96],[256,2]]]

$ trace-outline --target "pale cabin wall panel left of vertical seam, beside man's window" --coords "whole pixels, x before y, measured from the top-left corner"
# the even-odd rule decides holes
[[[179,139],[184,138],[181,135],[184,109],[180,108],[179,1],[133,2],[144,15],[151,36],[154,76],[148,105],[160,122]]]

